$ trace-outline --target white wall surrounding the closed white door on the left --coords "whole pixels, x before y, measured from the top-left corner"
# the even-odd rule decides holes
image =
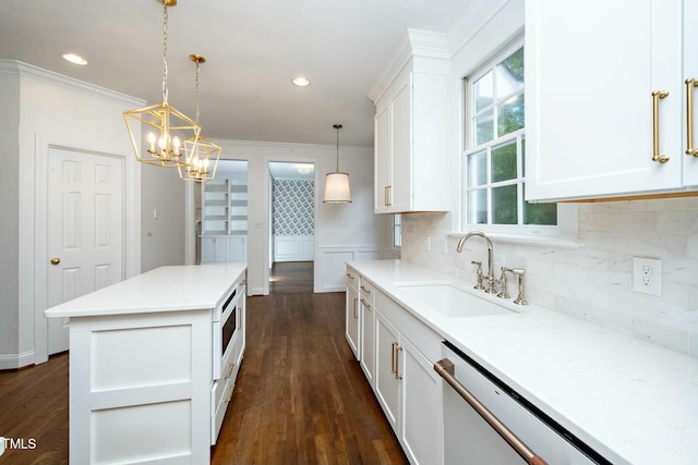
[[[46,277],[41,270],[48,261],[46,166],[50,146],[125,158],[124,206],[136,218],[127,218],[124,273],[140,272],[140,170],[122,112],[142,101],[12,60],[0,60],[0,121],[8,124],[0,132],[7,150],[3,160],[16,163],[16,170],[2,173],[2,201],[8,207],[3,215],[7,211],[9,218],[5,222],[3,217],[0,227],[0,256],[8,258],[0,271],[2,285],[8,286],[0,304],[0,368],[13,368],[46,358]]]

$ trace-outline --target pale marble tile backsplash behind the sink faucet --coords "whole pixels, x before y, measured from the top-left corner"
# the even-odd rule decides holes
[[[698,198],[580,204],[577,215],[578,248],[495,241],[496,274],[524,268],[530,302],[698,357]],[[486,249],[473,240],[456,253],[450,230],[448,213],[402,216],[401,257],[472,283]],[[661,297],[631,291],[636,256],[662,259]]]

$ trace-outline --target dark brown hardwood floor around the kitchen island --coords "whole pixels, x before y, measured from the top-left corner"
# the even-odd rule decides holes
[[[248,298],[246,351],[213,464],[408,463],[345,339],[344,305],[344,293],[313,294],[312,278],[310,292]],[[67,354],[0,371],[0,436],[36,440],[0,465],[68,463]]]

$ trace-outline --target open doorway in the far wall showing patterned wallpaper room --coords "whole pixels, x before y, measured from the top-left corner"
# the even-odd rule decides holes
[[[312,292],[315,166],[269,162],[269,292]]]

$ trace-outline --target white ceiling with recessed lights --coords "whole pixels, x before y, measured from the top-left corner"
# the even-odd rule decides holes
[[[179,0],[168,9],[169,102],[194,118],[201,66],[208,138],[373,145],[375,83],[408,27],[447,32],[472,0]],[[4,1],[0,58],[163,99],[157,0]],[[82,54],[86,66],[64,61]],[[291,85],[296,75],[312,84]]]

